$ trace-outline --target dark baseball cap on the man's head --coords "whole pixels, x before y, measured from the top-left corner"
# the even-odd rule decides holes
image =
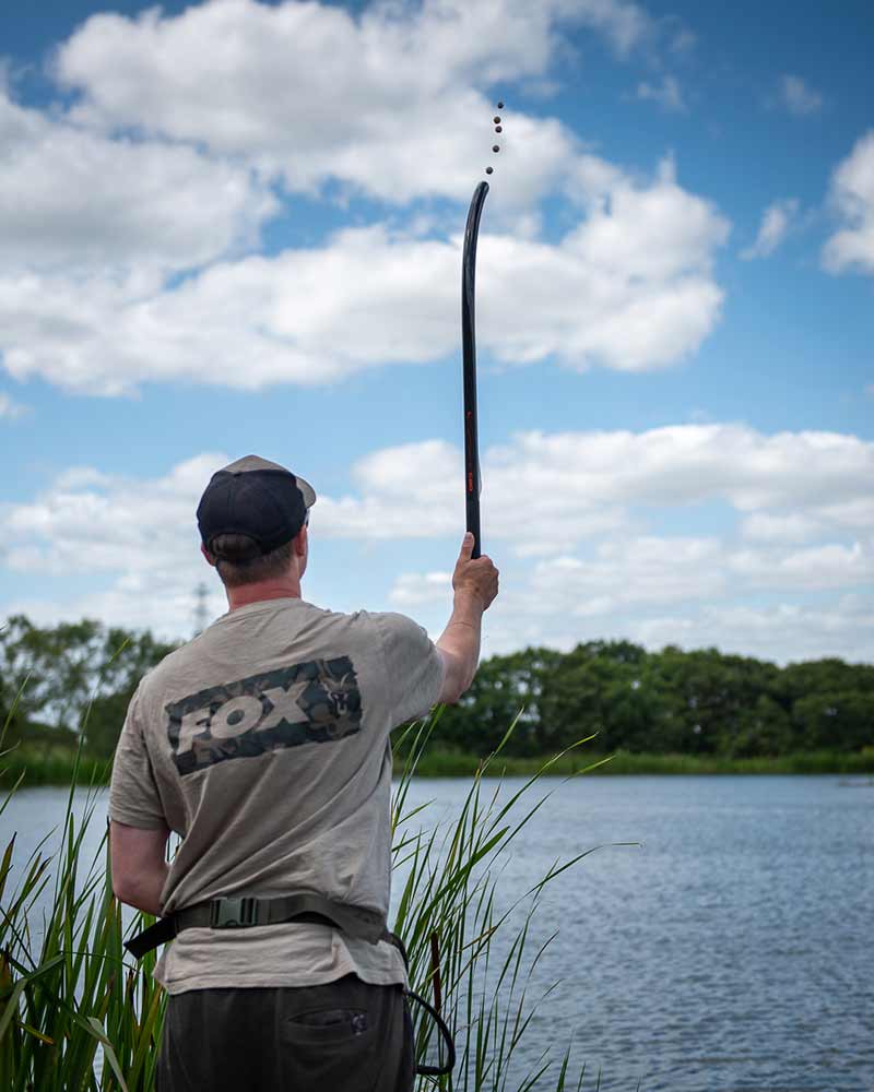
[[[247,535],[251,551],[234,560],[269,554],[292,538],[316,503],[312,486],[279,463],[246,455],[216,471],[198,505],[198,527],[206,550],[216,555],[217,535]]]

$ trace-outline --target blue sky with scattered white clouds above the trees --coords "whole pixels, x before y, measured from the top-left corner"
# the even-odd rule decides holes
[[[255,453],[318,494],[304,597],[436,638],[493,166],[484,654],[871,662],[873,38],[865,0],[5,5],[0,615],[190,637],[198,499]]]

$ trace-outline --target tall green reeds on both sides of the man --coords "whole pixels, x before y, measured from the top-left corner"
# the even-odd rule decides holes
[[[392,814],[400,893],[393,927],[410,952],[413,988],[436,1005],[454,1032],[458,1063],[450,1077],[418,1078],[417,1090],[597,1089],[600,1075],[584,1084],[584,1068],[571,1079],[569,1045],[557,1054],[546,1051],[533,1067],[520,1061],[532,1016],[548,1006],[554,988],[530,996],[531,973],[546,948],[532,950],[540,900],[556,877],[592,851],[554,863],[530,890],[513,891],[509,906],[499,889],[515,839],[548,799],[542,779],[569,756],[542,762],[521,786],[501,793],[485,779],[505,761],[510,729],[472,774],[458,815],[428,822],[428,806],[411,807],[409,794],[427,759],[433,725],[434,720],[418,722],[402,740],[406,758]],[[0,814],[14,806],[22,783],[14,760],[14,752],[0,755],[0,785],[8,786]],[[584,763],[578,764],[582,772]],[[81,753],[75,757],[57,855],[46,853],[44,840],[22,866],[13,836],[0,860],[0,1088],[8,1092],[154,1088],[165,1004],[152,978],[156,953],[135,963],[122,948],[126,936],[151,918],[137,915],[126,928],[111,893],[105,834],[94,858],[84,859],[83,838],[98,802],[96,772]],[[76,819],[75,785],[82,778],[88,784],[83,818]],[[36,905],[47,892],[49,907],[38,922]],[[428,1023],[416,1021],[416,1042],[420,1059],[430,1057]]]

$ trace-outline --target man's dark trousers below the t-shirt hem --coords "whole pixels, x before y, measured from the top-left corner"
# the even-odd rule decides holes
[[[167,999],[156,1092],[412,1092],[400,986],[192,989]]]

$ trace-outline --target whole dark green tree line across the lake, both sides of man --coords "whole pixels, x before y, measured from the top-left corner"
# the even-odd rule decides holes
[[[0,630],[4,746],[76,746],[111,756],[142,675],[175,644],[94,620],[42,628],[19,615]],[[838,658],[779,667],[717,649],[649,652],[589,641],[570,652],[492,656],[434,729],[448,749],[485,753],[516,721],[506,752],[553,753],[595,735],[603,752],[736,758],[874,743],[874,666]]]

